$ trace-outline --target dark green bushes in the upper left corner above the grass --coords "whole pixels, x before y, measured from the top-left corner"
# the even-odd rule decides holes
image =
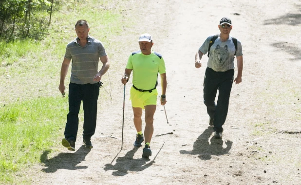
[[[1,1],[0,38],[43,38],[48,31],[50,7],[48,0]]]

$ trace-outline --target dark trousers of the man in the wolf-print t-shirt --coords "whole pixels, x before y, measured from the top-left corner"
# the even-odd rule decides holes
[[[214,131],[223,132],[233,79],[234,69],[226,72],[216,72],[208,67],[206,69],[204,78],[204,103],[207,106],[207,113],[211,119],[213,118]],[[217,90],[219,95],[215,105],[214,100]]]

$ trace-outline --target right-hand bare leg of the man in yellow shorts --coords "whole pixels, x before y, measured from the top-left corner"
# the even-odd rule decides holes
[[[144,139],[145,143],[151,143],[151,137],[153,133],[153,115],[156,111],[156,105],[145,106],[145,129]]]

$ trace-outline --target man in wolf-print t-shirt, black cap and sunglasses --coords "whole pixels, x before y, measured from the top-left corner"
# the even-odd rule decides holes
[[[218,28],[220,34],[207,37],[195,55],[194,64],[196,68],[200,68],[202,66],[200,60],[209,50],[204,78],[204,103],[207,106],[209,125],[214,127],[214,137],[217,139],[222,138],[222,132],[224,131],[222,126],[228,113],[233,81],[236,84],[241,83],[243,73],[242,44],[238,39],[230,36],[232,30],[231,20],[226,17],[222,18]],[[235,55],[237,59],[237,77],[234,79]],[[219,90],[219,96],[215,104],[217,90]]]

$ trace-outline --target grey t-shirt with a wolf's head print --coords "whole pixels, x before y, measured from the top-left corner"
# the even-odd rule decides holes
[[[214,35],[207,37],[207,39],[199,49],[199,51],[204,55],[208,52],[209,42],[213,36]],[[207,63],[208,68],[211,68],[216,72],[225,72],[230,69],[234,69],[234,53],[235,46],[232,41],[232,37],[229,36],[229,39],[225,42],[222,42],[220,40],[220,37],[218,37],[210,47]],[[243,56],[242,43],[238,39],[236,56]]]

